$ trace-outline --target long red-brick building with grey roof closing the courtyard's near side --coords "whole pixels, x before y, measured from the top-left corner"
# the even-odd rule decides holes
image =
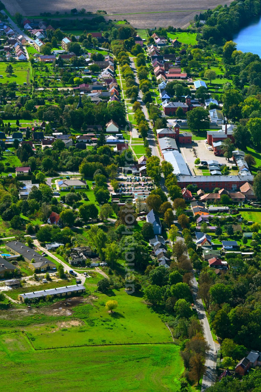
[[[213,191],[215,188],[224,188],[227,191],[236,191],[246,182],[253,183],[252,174],[241,174],[239,176],[178,176],[178,186],[181,189],[188,185],[196,185],[198,189]]]

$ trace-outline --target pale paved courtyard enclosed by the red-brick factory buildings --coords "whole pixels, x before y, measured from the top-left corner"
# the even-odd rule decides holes
[[[207,147],[209,147],[209,145],[205,143],[205,140],[195,140],[192,145],[183,145],[180,147],[180,152],[192,174],[194,174],[193,169],[195,168],[194,162],[196,158],[199,158],[200,161],[216,160],[221,165],[227,165],[231,168],[232,159],[228,162],[224,156],[214,155],[214,152],[209,151]],[[196,152],[196,155],[194,154],[194,151]]]

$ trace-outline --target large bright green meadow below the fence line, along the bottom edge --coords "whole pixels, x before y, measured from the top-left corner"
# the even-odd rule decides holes
[[[172,344],[33,351],[25,336],[17,333],[0,337],[0,352],[6,392],[34,392],[36,385],[38,392],[50,386],[57,392],[176,392],[183,372],[179,347]]]

